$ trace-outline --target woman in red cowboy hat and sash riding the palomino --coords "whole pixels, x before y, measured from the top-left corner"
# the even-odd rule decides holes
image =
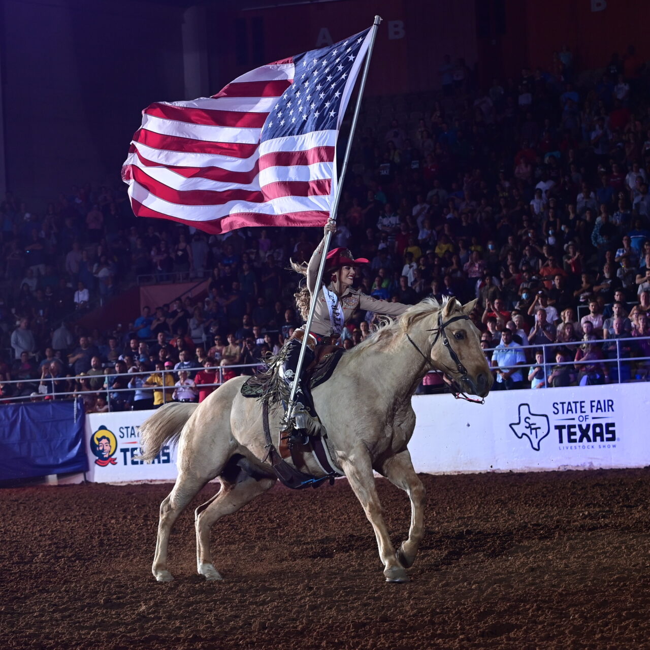
[[[320,287],[317,287],[318,268],[328,232],[336,232],[336,223],[333,220],[328,220],[324,229],[325,235],[313,255],[311,255],[309,264],[305,267],[304,265],[292,263],[294,270],[307,276],[307,286],[296,292],[296,304],[305,320],[307,320],[311,300],[314,296],[317,298],[303,368],[307,367],[315,359],[317,345],[335,344],[345,324],[350,321],[356,309],[365,309],[387,316],[400,316],[410,306],[400,302],[377,300],[358,289],[353,289],[352,284],[357,273],[356,267],[367,264],[368,260],[363,257],[354,259],[352,253],[346,248],[334,248],[327,254],[324,282]],[[291,389],[296,368],[298,367],[298,357],[300,356],[304,335],[305,326],[302,326],[294,331],[285,347],[286,359],[281,372],[283,379],[289,385],[289,389]],[[285,430],[291,430],[291,443],[304,441],[306,436],[317,435],[320,432],[320,422],[311,413],[309,406],[311,400],[309,400],[308,395],[307,387],[299,378],[292,426],[289,426],[289,422],[285,422]]]

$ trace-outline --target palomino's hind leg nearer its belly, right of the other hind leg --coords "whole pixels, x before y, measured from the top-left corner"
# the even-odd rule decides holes
[[[269,476],[253,478],[245,474],[239,474],[236,478],[222,475],[220,480],[221,489],[216,497],[195,511],[196,568],[199,575],[204,576],[206,580],[222,580],[220,573],[214,568],[210,552],[210,529],[214,523],[224,515],[237,512],[239,508],[273,487],[276,482],[275,478]]]

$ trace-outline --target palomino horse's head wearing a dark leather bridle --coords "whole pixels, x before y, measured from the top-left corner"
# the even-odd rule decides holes
[[[476,300],[461,305],[450,298],[437,311],[431,330],[431,363],[460,392],[485,397],[494,383],[480,346],[478,329],[469,318]]]

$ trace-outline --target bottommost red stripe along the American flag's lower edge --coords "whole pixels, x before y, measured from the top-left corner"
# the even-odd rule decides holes
[[[274,226],[322,227],[326,224],[328,216],[330,216],[328,211],[312,210],[287,214],[240,213],[223,216],[214,221],[192,221],[157,212],[142,205],[140,201],[136,201],[135,199],[131,199],[131,207],[135,216],[168,219],[179,224],[185,224],[186,226],[194,226],[211,235],[221,235],[235,228],[258,226],[265,228]]]

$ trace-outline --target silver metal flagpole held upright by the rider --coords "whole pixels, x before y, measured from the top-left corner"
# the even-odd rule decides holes
[[[361,110],[361,98],[363,98],[363,88],[365,88],[365,82],[368,77],[368,70],[370,68],[370,57],[372,56],[372,47],[374,46],[374,39],[377,36],[377,27],[379,23],[382,22],[381,16],[374,17],[374,23],[372,23],[372,37],[370,38],[370,44],[368,45],[368,52],[366,54],[365,64],[363,66],[363,75],[361,75],[361,84],[359,85],[359,96],[357,97],[357,103],[354,107],[354,116],[352,117],[352,125],[350,125],[350,135],[348,135],[348,144],[345,148],[345,155],[343,157],[343,165],[341,166],[341,176],[339,177],[339,183],[336,188],[336,194],[334,195],[334,201],[330,209],[330,220],[336,221],[336,213],[339,207],[339,201],[341,200],[341,191],[343,189],[343,178],[345,172],[348,168],[348,159],[350,158],[350,151],[352,150],[352,140],[354,140],[354,130],[357,126],[357,121],[359,119],[359,111]],[[327,261],[327,252],[330,248],[331,241],[331,232],[328,232],[325,237],[325,244],[323,248],[323,254],[320,258],[320,266],[318,266],[318,276],[316,279],[317,291],[320,290],[320,283],[322,282],[322,277],[325,271],[325,263]],[[291,395],[289,395],[289,404],[287,406],[287,421],[291,418],[294,409],[294,399],[296,398],[296,391],[298,390],[298,380],[300,379],[300,372],[302,372],[302,364],[305,359],[305,348],[307,347],[307,341],[309,339],[309,331],[311,330],[311,323],[314,320],[314,313],[316,311],[316,302],[318,296],[312,296],[311,303],[309,304],[309,315],[307,315],[307,322],[305,323],[305,335],[302,337],[302,346],[300,346],[300,356],[298,357],[298,365],[296,367],[296,374],[294,376],[293,383],[291,384]]]

